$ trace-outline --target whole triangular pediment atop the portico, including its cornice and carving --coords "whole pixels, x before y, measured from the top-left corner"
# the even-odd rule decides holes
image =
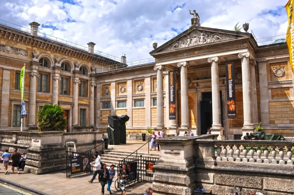
[[[216,43],[227,41],[238,37],[250,36],[249,33],[220,30],[214,28],[194,27],[179,34],[159,48],[153,50],[150,54],[173,51],[182,48],[204,45],[208,43]]]

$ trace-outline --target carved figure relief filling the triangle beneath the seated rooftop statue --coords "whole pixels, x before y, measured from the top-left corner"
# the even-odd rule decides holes
[[[214,43],[218,41],[225,41],[233,38],[236,38],[236,36],[222,33],[213,33],[209,31],[194,30],[189,35],[180,38],[178,41],[164,48],[163,51],[170,51],[180,48],[202,45],[206,43]]]

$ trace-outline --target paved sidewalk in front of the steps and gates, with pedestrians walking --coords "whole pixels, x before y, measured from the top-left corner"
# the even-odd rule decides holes
[[[98,182],[98,179],[95,179],[93,183],[89,183],[88,180],[92,178],[92,174],[84,174],[79,176],[73,176],[71,178],[66,178],[66,170],[47,173],[41,175],[35,175],[27,172],[20,171],[21,174],[17,174],[15,171],[14,174],[11,174],[11,166],[8,167],[8,174],[4,174],[4,170],[1,167],[0,178],[7,180],[8,182],[14,182],[22,187],[27,187],[41,191],[45,194],[85,194],[85,195],[97,195],[101,194],[101,184]],[[98,178],[98,175],[97,175]],[[117,179],[117,176],[113,179]],[[114,181],[111,185],[112,194],[121,194],[120,191],[117,191],[114,187]],[[14,184],[15,185],[15,184]],[[126,194],[128,195],[137,195],[144,194],[145,189],[150,187],[151,183],[139,182],[136,183],[133,187],[126,188]],[[106,190],[107,185],[105,186],[105,193],[109,194]]]

